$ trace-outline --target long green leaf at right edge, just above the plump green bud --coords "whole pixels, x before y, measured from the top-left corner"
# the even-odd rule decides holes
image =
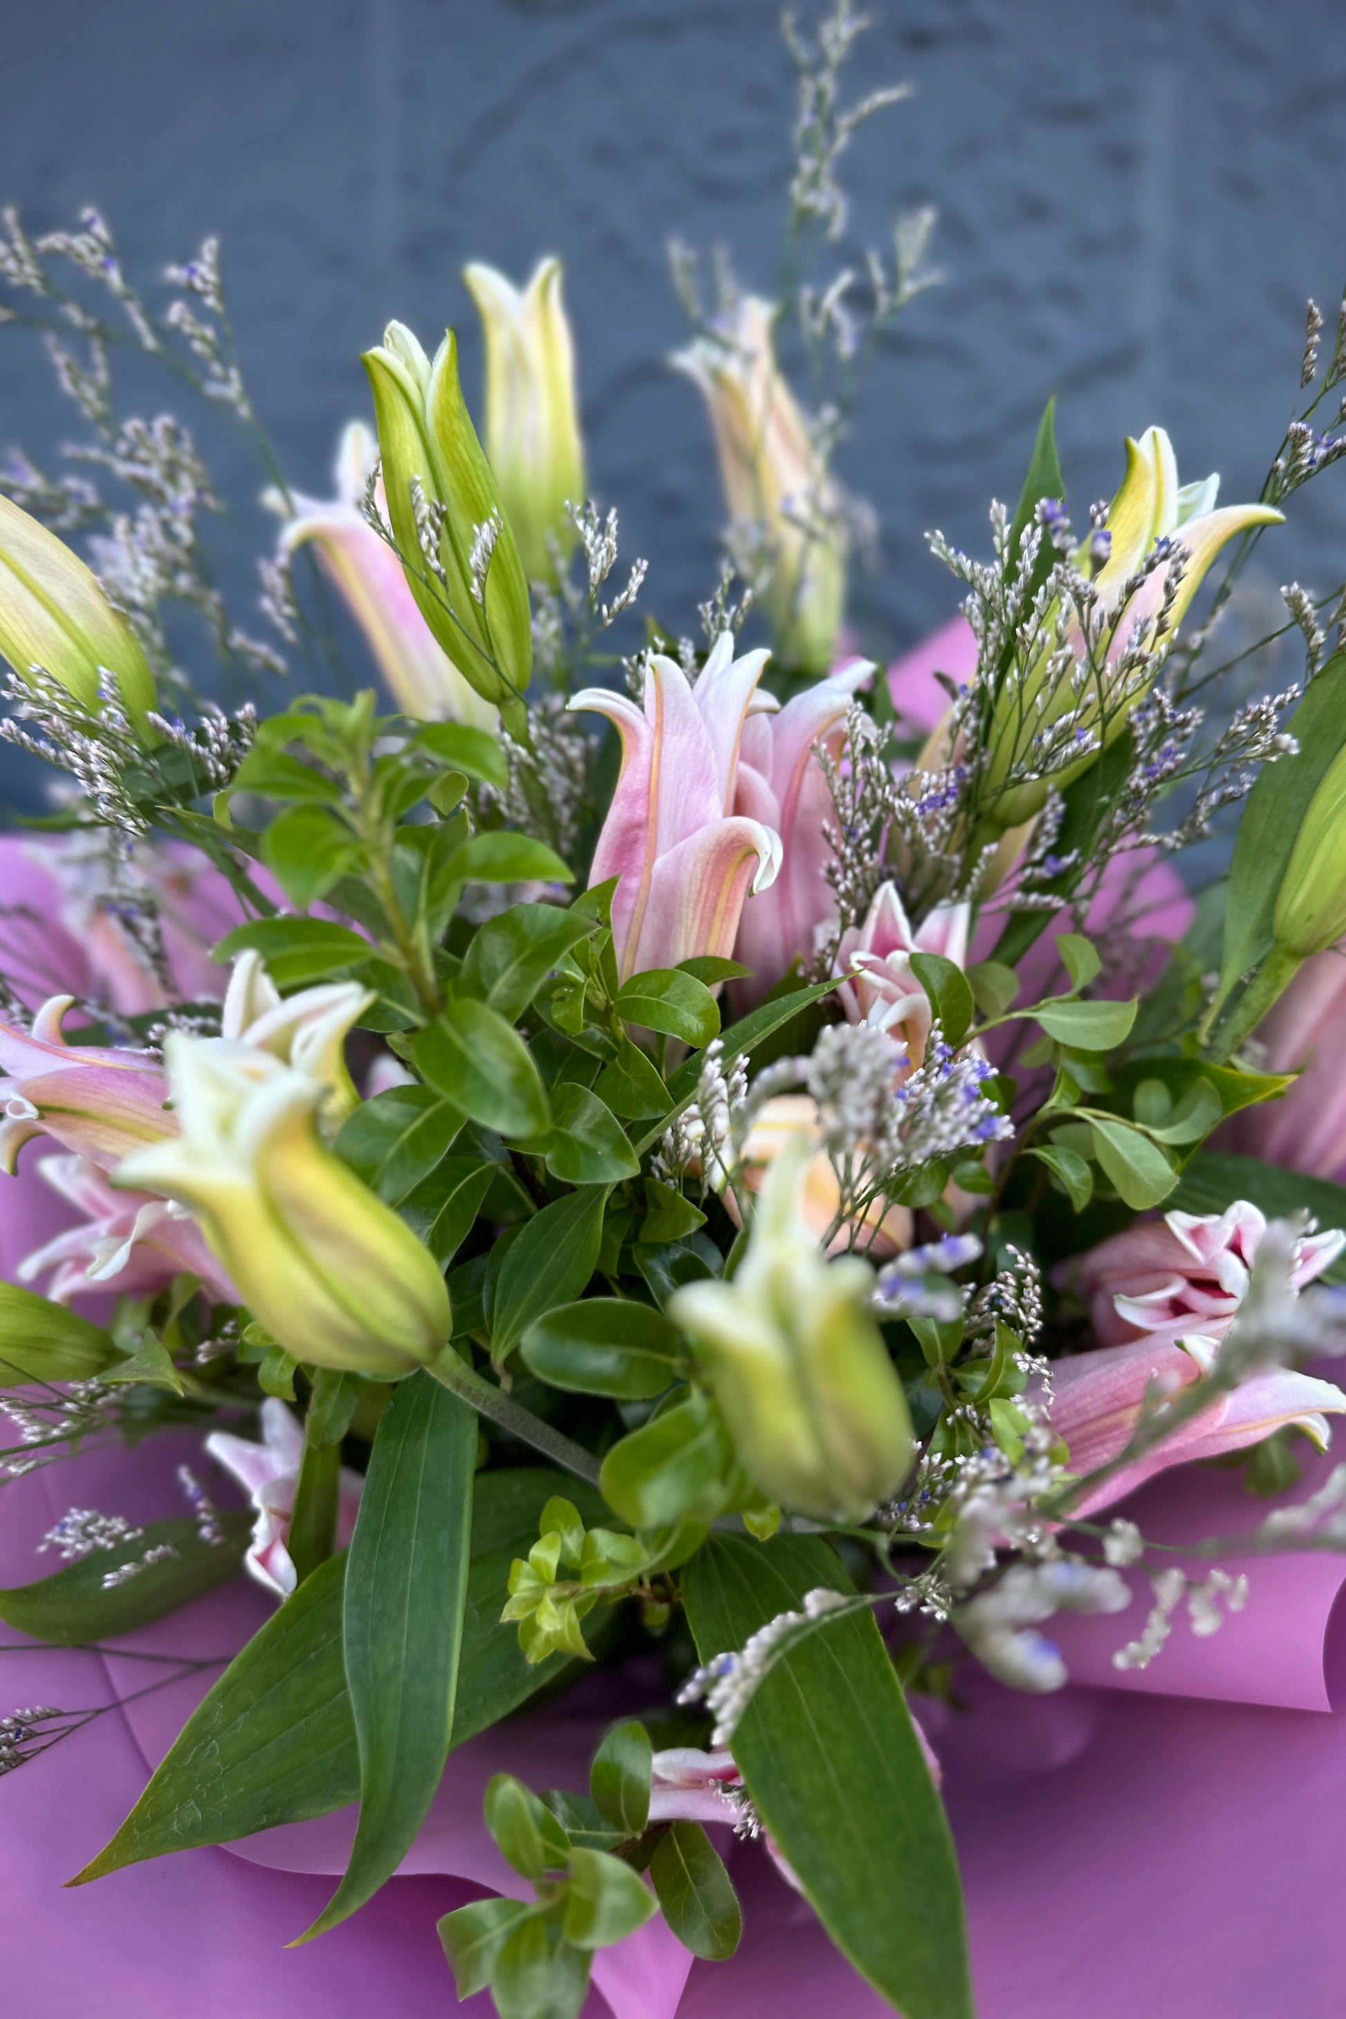
[[[1346,745],[1346,652],[1318,672],[1289,731],[1300,749],[1263,765],[1243,804],[1229,864],[1217,1003],[1271,951],[1271,917],[1310,800]]]

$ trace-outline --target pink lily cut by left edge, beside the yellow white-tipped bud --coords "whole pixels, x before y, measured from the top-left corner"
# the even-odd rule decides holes
[[[89,1157],[111,1171],[133,1149],[178,1133],[165,1110],[167,1078],[149,1052],[119,1046],[67,1044],[63,1018],[73,995],[50,995],[32,1030],[0,1022],[0,1169],[36,1135]]]

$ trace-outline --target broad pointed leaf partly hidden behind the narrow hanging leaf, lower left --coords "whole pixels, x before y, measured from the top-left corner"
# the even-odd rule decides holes
[[[472,1561],[462,1621],[454,1744],[484,1732],[565,1660],[531,1668],[500,1593],[515,1557],[539,1534],[539,1510],[563,1488],[587,1520],[603,1502],[583,1480],[543,1466],[476,1476]],[[359,1795],[355,1722],[341,1660],[345,1553],[323,1563],[252,1635],[192,1712],[149,1787],[81,1878],[202,1843],[232,1843],[276,1823],[327,1815]],[[123,1587],[125,1589],[125,1587]]]

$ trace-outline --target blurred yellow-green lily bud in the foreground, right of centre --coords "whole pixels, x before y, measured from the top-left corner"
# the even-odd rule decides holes
[[[906,1478],[906,1397],[868,1308],[874,1272],[827,1262],[801,1189],[809,1143],[775,1159],[733,1282],[684,1284],[670,1298],[735,1440],[769,1500],[823,1520],[864,1520]]]

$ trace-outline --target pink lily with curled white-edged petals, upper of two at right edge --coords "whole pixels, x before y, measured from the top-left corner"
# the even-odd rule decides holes
[[[1193,1335],[1223,1339],[1247,1294],[1267,1221],[1247,1199],[1223,1213],[1164,1213],[1100,1242],[1074,1266],[1104,1345],[1150,1333],[1172,1347]],[[1336,1230],[1296,1242],[1292,1286],[1302,1290],[1346,1246]]]

